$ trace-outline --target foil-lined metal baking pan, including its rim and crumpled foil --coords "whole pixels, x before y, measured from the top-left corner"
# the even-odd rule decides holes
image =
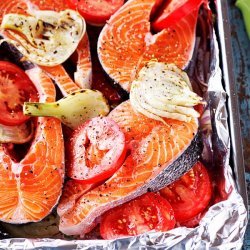
[[[2,249],[240,249],[247,224],[246,185],[240,132],[240,119],[236,82],[234,81],[228,1],[214,4],[216,37],[214,46],[214,72],[212,86],[207,93],[211,120],[218,144],[222,145],[225,179],[230,191],[228,200],[213,205],[196,228],[179,227],[168,232],[149,232],[136,237],[117,240],[65,240],[65,239],[3,239]],[[218,44],[219,43],[219,50]],[[220,58],[220,60],[219,60]],[[219,64],[220,62],[220,64]],[[220,66],[220,67],[219,67]],[[221,78],[221,70],[223,77]],[[221,85],[223,80],[223,87]],[[229,125],[229,128],[228,128]],[[230,132],[230,138],[229,138]],[[219,146],[220,146],[219,145]],[[217,145],[218,146],[218,145]],[[218,148],[220,148],[218,146]],[[230,161],[229,161],[230,150]],[[220,152],[214,151],[217,154]],[[233,169],[233,177],[232,171]],[[235,183],[237,190],[235,188]],[[230,189],[232,188],[232,189]],[[242,199],[243,198],[243,199]],[[244,200],[244,203],[243,203]],[[245,204],[245,205],[244,205]]]

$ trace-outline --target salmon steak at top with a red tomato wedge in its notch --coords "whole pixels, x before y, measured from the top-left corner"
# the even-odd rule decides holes
[[[193,54],[198,11],[153,35],[150,15],[157,2],[129,0],[110,18],[99,37],[98,54],[103,69],[128,92],[149,60],[185,68]]]

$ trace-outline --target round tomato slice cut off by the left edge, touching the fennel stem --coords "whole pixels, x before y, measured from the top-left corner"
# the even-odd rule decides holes
[[[0,123],[24,123],[30,117],[23,114],[23,103],[35,101],[37,90],[25,72],[10,62],[0,61]]]

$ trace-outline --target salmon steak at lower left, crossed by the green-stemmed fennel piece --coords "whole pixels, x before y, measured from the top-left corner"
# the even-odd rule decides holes
[[[26,73],[40,101],[55,100],[54,85],[41,69]],[[0,220],[20,224],[49,215],[60,198],[64,172],[62,129],[55,118],[38,118],[31,147],[20,162],[12,160],[0,144]]]

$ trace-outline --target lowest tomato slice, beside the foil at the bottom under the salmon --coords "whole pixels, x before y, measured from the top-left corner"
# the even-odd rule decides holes
[[[164,198],[147,193],[109,210],[101,220],[104,239],[134,236],[150,230],[167,231],[175,226],[174,212]]]

